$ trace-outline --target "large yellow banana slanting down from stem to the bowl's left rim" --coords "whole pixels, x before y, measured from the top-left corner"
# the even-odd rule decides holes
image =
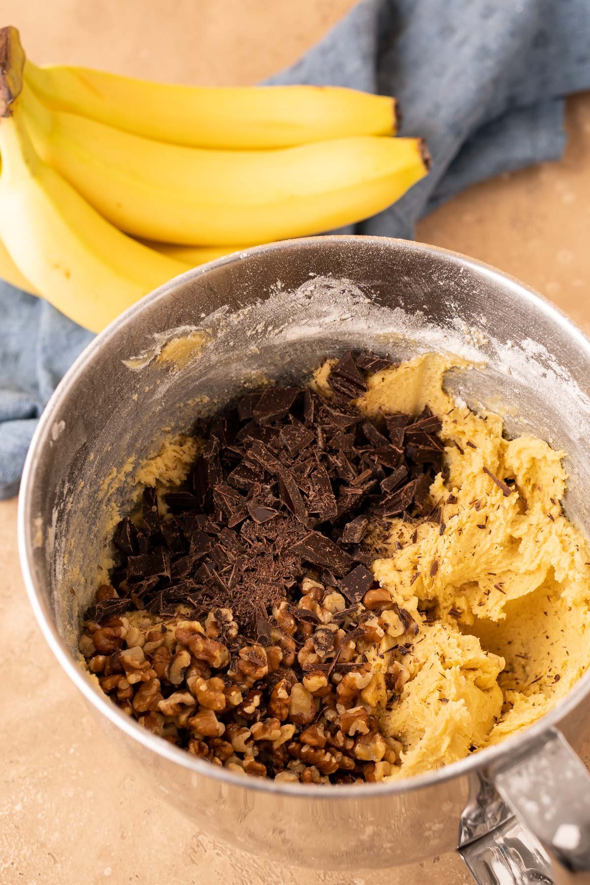
[[[34,151],[19,102],[0,119],[0,236],[20,273],[66,316],[98,332],[187,269],[101,218]]]

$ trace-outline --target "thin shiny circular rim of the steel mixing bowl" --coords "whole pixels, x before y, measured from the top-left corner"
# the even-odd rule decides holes
[[[281,783],[272,781],[270,778],[248,778],[243,775],[234,774],[221,766],[213,766],[206,760],[197,758],[188,753],[187,750],[181,750],[173,746],[171,743],[162,740],[157,735],[152,734],[147,729],[139,725],[138,722],[130,719],[119,708],[112,704],[111,700],[97,689],[90,681],[88,674],[80,666],[80,662],[75,660],[70,651],[66,648],[64,641],[57,631],[57,626],[51,617],[49,606],[45,604],[42,593],[37,585],[34,575],[33,561],[33,538],[34,524],[32,507],[32,494],[34,487],[34,474],[36,467],[42,459],[42,446],[50,435],[53,413],[57,410],[62,396],[66,390],[76,381],[77,376],[87,365],[88,361],[93,358],[97,352],[102,350],[103,344],[109,341],[113,336],[119,334],[119,330],[126,327],[134,318],[141,314],[150,304],[165,299],[179,285],[188,281],[195,280],[211,270],[219,267],[231,265],[244,259],[257,255],[264,255],[272,251],[292,250],[298,248],[308,248],[316,245],[321,248],[324,243],[350,244],[351,248],[363,248],[364,243],[372,243],[380,245],[393,251],[409,251],[422,256],[436,256],[446,263],[459,264],[463,267],[469,267],[475,273],[486,278],[488,281],[494,281],[504,289],[509,289],[519,300],[528,302],[533,307],[542,312],[551,322],[568,335],[572,341],[576,342],[583,351],[585,357],[590,364],[590,341],[586,338],[579,328],[554,304],[548,302],[546,298],[540,296],[534,289],[517,281],[514,277],[507,273],[502,273],[497,268],[478,261],[475,258],[468,258],[459,252],[441,249],[438,246],[431,246],[426,243],[414,242],[410,240],[395,239],[393,237],[382,236],[360,236],[360,235],[326,235],[326,236],[308,236],[292,240],[282,240],[280,242],[272,242],[263,246],[251,246],[249,249],[240,250],[204,265],[197,266],[192,270],[181,273],[172,280],[154,289],[148,295],[114,319],[109,326],[103,329],[101,333],[88,344],[88,346],[80,353],[80,356],[73,362],[62,380],[57,385],[54,393],[50,397],[48,404],[42,412],[39,423],[35,428],[32,441],[27,453],[27,459],[23,469],[22,480],[19,494],[18,508],[18,539],[19,539],[19,558],[20,565],[27,589],[27,596],[33,608],[34,616],[41,628],[42,635],[49,644],[50,649],[57,658],[57,661],[65,670],[73,684],[80,690],[81,694],[92,704],[96,711],[106,717],[107,720],[123,731],[128,737],[134,741],[141,743],[147,750],[151,750],[157,756],[165,758],[169,762],[179,765],[195,774],[204,777],[213,778],[214,780],[238,787],[241,789],[249,789],[256,792],[272,793],[284,797],[300,797],[314,799],[340,799],[349,800],[361,797],[387,797],[399,795],[401,793],[414,792],[418,789],[435,787],[468,774],[475,773],[482,768],[487,767],[496,769],[506,765],[508,759],[518,756],[528,748],[532,749],[533,744],[546,733],[551,727],[556,727],[560,720],[568,715],[584,697],[590,692],[590,670],[588,670],[576,683],[576,685],[558,701],[548,713],[533,723],[533,725],[525,728],[516,735],[510,735],[500,743],[487,747],[484,750],[472,754],[469,757],[451,762],[447,766],[435,769],[434,771],[418,774],[410,778],[403,778],[395,781],[382,781],[380,783],[364,783],[364,784],[348,784],[336,785],[331,788],[323,784],[302,784],[302,783]]]

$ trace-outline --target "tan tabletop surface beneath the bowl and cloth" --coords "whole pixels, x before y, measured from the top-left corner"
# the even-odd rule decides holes
[[[294,61],[352,4],[0,0],[0,18],[20,28],[40,62],[250,83]],[[426,219],[418,238],[513,273],[590,331],[590,96],[570,102],[568,127],[562,163],[470,189]],[[393,873],[311,873],[264,865],[195,832],[96,730],[51,656],[20,577],[14,501],[0,504],[0,575],[1,885],[467,881],[452,855]]]

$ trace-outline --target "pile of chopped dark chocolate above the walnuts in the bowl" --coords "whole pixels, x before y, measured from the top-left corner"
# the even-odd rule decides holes
[[[139,530],[120,521],[121,566],[111,575],[119,597],[97,603],[96,619],[133,605],[157,613],[180,603],[200,612],[226,607],[242,640],[268,644],[272,605],[281,600],[296,620],[318,623],[293,605],[310,570],[354,608],[375,586],[375,554],[363,544],[370,519],[428,519],[443,450],[441,422],[429,410],[415,420],[385,416],[386,436],[381,419],[350,402],[367,389],[363,373],[392,365],[349,352],[328,376],[330,399],[310,388],[271,388],[203,422],[203,450],[187,487],[166,494],[166,516],[156,489],[146,489]]]

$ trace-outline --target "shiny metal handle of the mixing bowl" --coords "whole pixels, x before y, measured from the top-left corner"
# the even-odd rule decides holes
[[[459,853],[479,885],[590,883],[590,774],[551,728],[494,773],[515,815]]]

